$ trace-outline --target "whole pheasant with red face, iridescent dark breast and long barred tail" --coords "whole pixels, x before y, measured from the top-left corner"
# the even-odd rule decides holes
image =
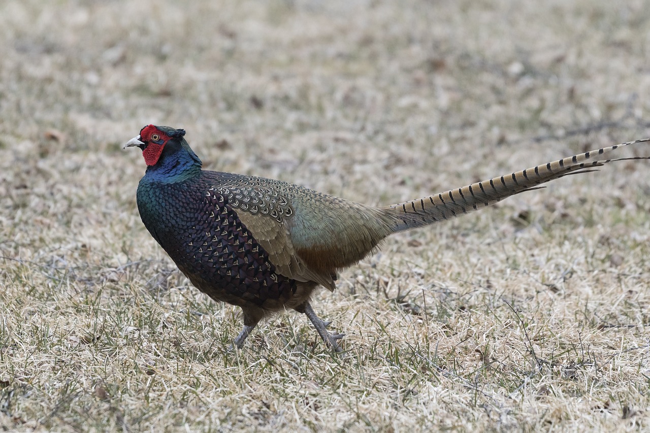
[[[147,170],[137,190],[144,226],[200,291],[239,306],[241,348],[261,319],[281,309],[304,313],[339,352],[309,300],[333,291],[339,270],[354,265],[385,237],[459,217],[568,174],[612,161],[604,155],[650,138],[589,151],[432,196],[373,207],[263,177],[201,170],[183,129],[147,125],[124,148],[142,150]],[[596,161],[586,162],[595,157]]]

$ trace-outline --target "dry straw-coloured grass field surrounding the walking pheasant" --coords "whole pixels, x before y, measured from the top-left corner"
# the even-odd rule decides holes
[[[391,237],[314,299],[337,356],[292,311],[227,350],[122,150],[386,205],[643,138],[647,2],[4,0],[0,42],[0,429],[650,430],[647,161]]]

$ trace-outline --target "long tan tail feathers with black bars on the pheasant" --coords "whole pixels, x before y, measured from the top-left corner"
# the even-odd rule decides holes
[[[643,138],[643,140],[630,141],[608,148],[580,153],[580,155],[574,155],[552,163],[526,168],[526,170],[521,170],[521,172],[494,177],[493,179],[476,182],[466,187],[418,198],[410,202],[389,205],[382,209],[389,211],[395,217],[395,231],[434,224],[435,222],[448,220],[471,211],[476,211],[482,207],[497,203],[506,197],[519,194],[519,192],[544,188],[538,187],[537,185],[559,179],[569,174],[597,171],[593,168],[614,161],[650,159],[649,156],[598,159],[596,161],[584,162],[588,159],[601,157],[623,146],[649,141],[650,138]]]

